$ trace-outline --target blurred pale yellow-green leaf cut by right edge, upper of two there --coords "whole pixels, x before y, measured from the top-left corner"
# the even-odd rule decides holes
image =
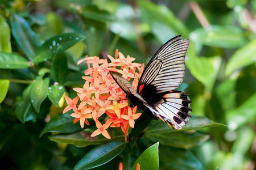
[[[229,59],[226,65],[226,75],[230,75],[233,71],[241,67],[255,63],[256,61],[256,39],[238,49]],[[241,57],[242,56],[242,57]]]

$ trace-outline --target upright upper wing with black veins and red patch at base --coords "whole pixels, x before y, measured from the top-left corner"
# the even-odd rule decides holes
[[[182,40],[181,35],[167,41],[148,62],[139,80],[137,92],[141,94],[143,86],[154,86],[156,93],[179,87],[185,74],[184,60],[188,45],[189,39]]]

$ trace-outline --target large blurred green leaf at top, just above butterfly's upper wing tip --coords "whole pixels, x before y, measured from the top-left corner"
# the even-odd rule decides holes
[[[166,6],[155,5],[150,1],[139,1],[138,4],[141,10],[140,19],[150,25],[152,33],[162,43],[180,34],[183,38],[188,37],[189,33],[183,22]]]

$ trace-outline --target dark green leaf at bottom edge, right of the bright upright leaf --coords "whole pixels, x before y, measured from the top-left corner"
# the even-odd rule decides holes
[[[203,170],[203,165],[189,150],[170,146],[159,147],[159,161],[163,169]]]

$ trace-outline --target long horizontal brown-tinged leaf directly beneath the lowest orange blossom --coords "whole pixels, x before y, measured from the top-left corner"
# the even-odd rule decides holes
[[[77,124],[77,127],[78,127],[78,124]],[[64,128],[65,127],[63,127],[63,130],[64,130]],[[79,126],[79,128],[81,129],[80,126]],[[90,129],[85,129],[84,131],[73,133],[73,134],[51,135],[49,137],[49,139],[51,141],[58,142],[58,143],[72,144],[72,145],[75,145],[76,147],[85,147],[85,146],[89,146],[89,145],[101,145],[106,142],[123,141],[125,139],[124,135],[112,137],[111,139],[106,139],[106,138],[98,139],[98,137],[90,137],[90,135],[92,134],[91,131],[92,130],[90,130]]]

